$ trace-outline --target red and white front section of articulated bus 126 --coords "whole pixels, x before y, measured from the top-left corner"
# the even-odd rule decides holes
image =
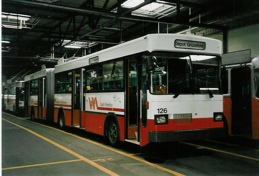
[[[145,146],[224,136],[221,41],[150,34],[55,66],[54,121]]]

